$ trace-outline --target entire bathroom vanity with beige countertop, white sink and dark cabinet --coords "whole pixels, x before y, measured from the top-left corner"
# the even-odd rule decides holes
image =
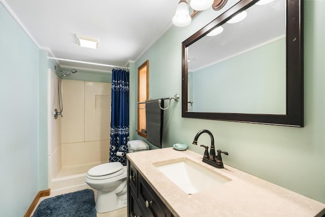
[[[228,165],[214,168],[202,162],[202,157],[172,147],[128,153],[128,216],[325,214],[323,203]],[[184,170],[189,171],[189,182]],[[198,188],[191,186],[196,182],[201,183]]]

